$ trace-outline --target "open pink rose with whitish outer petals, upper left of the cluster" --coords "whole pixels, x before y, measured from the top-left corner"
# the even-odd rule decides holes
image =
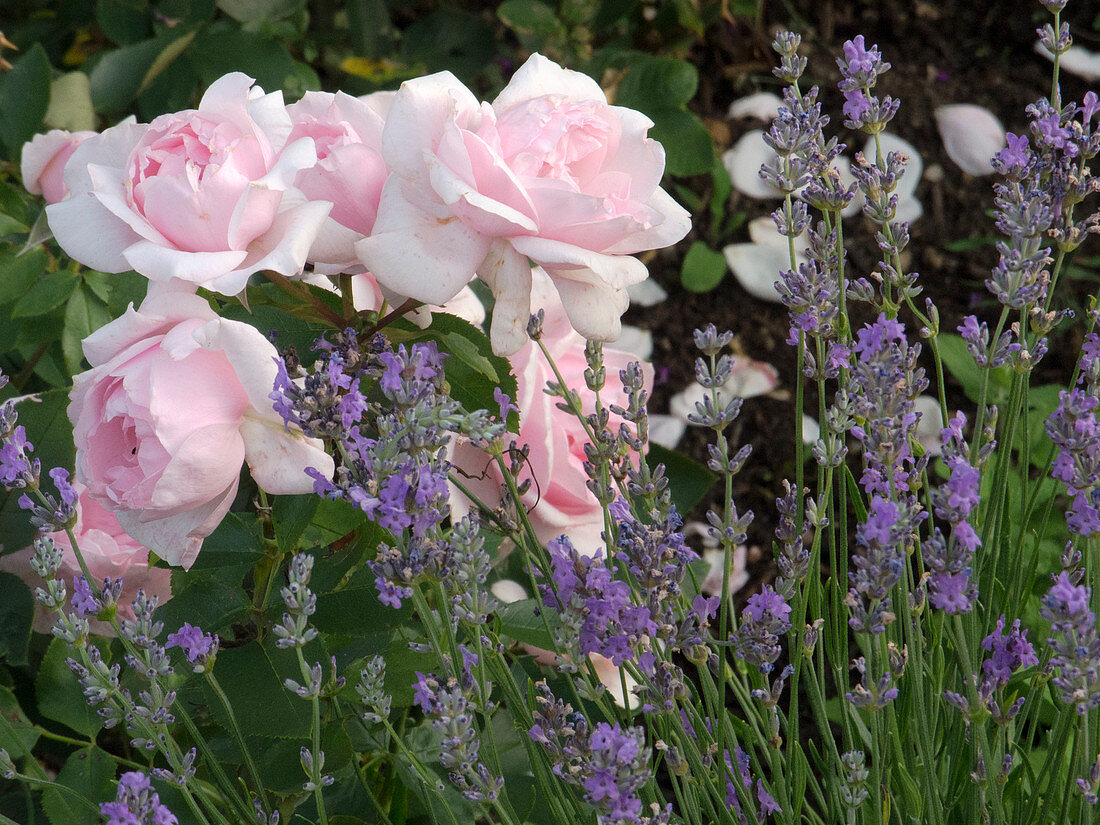
[[[294,276],[328,216],[293,188],[317,156],[287,143],[282,92],[264,95],[234,73],[198,109],[123,122],[81,143],[65,167],[72,196],[46,208],[73,258],[101,272],[136,270],[223,295],[249,276]]]

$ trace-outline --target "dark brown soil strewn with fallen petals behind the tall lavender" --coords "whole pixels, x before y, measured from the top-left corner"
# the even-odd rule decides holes
[[[970,312],[993,315],[992,299],[982,282],[997,253],[991,242],[980,242],[996,235],[991,217],[993,178],[972,178],[955,166],[944,152],[933,110],[945,103],[976,103],[997,114],[1008,131],[1024,131],[1024,108],[1050,90],[1050,63],[1034,51],[1035,30],[1049,15],[1034,0],[796,0],[765,6],[762,32],[740,21],[713,28],[691,56],[701,67],[695,111],[717,136],[719,151],[748,129],[758,128],[756,122],[727,121],[726,110],[734,99],[759,90],[781,94],[780,82],[770,74],[774,55],[769,46],[771,32],[780,25],[793,25],[803,35],[801,53],[810,58],[804,87],[816,84],[822,88],[825,110],[833,116],[828,133],[851,146],[861,146],[862,135],[854,135],[842,123],[843,99],[836,90],[839,72],[834,57],[845,40],[864,34],[868,44],[878,44],[893,66],[877,88],[880,95],[902,101],[890,131],[913,143],[924,161],[925,176],[916,194],[925,213],[911,228],[908,266],[921,273],[925,295],[939,307],[944,330],[954,331],[960,318]],[[1097,50],[1100,32],[1092,29],[1097,11],[1088,7],[1090,3],[1070,3],[1064,19],[1072,26],[1075,42]],[[1088,88],[1079,78],[1063,73],[1064,100],[1080,100]],[[707,193],[707,178],[693,183],[701,194]],[[767,215],[776,204],[735,191],[729,208],[751,219]],[[705,226],[705,220],[698,220],[697,226]],[[851,239],[849,277],[868,275],[878,261],[878,250],[866,220],[848,219],[845,233]],[[705,240],[724,245],[744,241],[746,234],[743,227],[734,237]],[[955,245],[965,241],[972,243],[961,244],[964,249]],[[1092,239],[1078,252],[1077,261],[1096,255],[1098,246]],[[737,479],[735,497],[740,508],[756,513],[749,543],[759,544],[765,552],[752,572],[763,578],[770,571],[774,498],[781,480],[794,475],[793,394],[798,376],[793,349],[784,343],[787,311],[778,304],[750,297],[728,274],[712,293],[689,293],[680,286],[679,260],[662,254],[650,262],[653,277],[668,289],[670,299],[652,308],[634,309],[626,318],[653,331],[653,361],[659,374],[664,373],[660,367],[667,367],[667,381],[656,388],[652,409],[667,409],[669,396],[692,381],[691,332],[708,321],[733,330],[737,345],[746,354],[774,364],[780,386],[787,391],[787,398],[746,402],[738,421],[737,437],[741,443],[752,444],[754,455]],[[1079,308],[1094,290],[1094,284],[1070,278],[1059,288],[1062,305]],[[903,319],[911,320],[904,315]],[[1078,345],[1079,338],[1074,334],[1056,334],[1036,383],[1064,381]],[[949,393],[956,394],[952,399],[955,406],[968,408],[953,387]],[[703,433],[689,431],[680,449],[703,460]],[[719,502],[715,490],[710,504]],[[700,517],[703,509],[694,516]]]

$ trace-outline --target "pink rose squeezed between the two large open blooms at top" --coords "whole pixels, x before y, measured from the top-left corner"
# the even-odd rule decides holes
[[[332,204],[309,262],[328,274],[361,271],[354,244],[371,234],[389,175],[382,160],[385,119],[375,106],[342,91],[307,91],[286,111],[294,124],[288,141],[311,138],[317,147],[317,165],[299,172],[295,186],[309,200]]]

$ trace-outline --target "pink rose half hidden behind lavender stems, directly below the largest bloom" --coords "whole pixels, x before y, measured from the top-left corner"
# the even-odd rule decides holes
[[[534,273],[531,305],[546,311],[542,326],[542,342],[550,351],[565,383],[581,394],[585,414],[595,410],[595,397],[585,388],[584,339],[569,323],[569,318],[554,293],[550,278],[538,270]],[[524,495],[527,509],[539,541],[546,544],[551,539],[566,534],[578,552],[592,556],[604,546],[601,534],[604,529],[604,512],[600,503],[585,486],[584,444],[587,433],[584,426],[569,413],[558,408],[560,398],[542,392],[547,382],[557,381],[550,364],[541,350],[528,341],[519,352],[510,355],[512,371],[516,374],[519,407],[520,444],[530,446],[530,457],[519,480],[532,479],[530,490]],[[604,348],[604,364],[607,384],[601,391],[600,399],[605,407],[613,404],[626,406],[627,398],[618,381],[620,370],[638,359],[634,355]],[[647,392],[653,386],[653,370],[642,364]],[[608,427],[617,431],[623,418],[610,415]],[[501,474],[490,457],[469,442],[460,442],[454,448],[452,463],[466,476],[463,484],[482,502],[491,507],[501,497]],[[466,512],[469,502],[455,494],[451,497],[454,509]]]

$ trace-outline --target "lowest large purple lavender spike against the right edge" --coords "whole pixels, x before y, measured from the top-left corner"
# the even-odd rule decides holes
[[[1054,649],[1052,664],[1059,669],[1054,685],[1062,701],[1085,715],[1100,706],[1100,637],[1096,614],[1089,609],[1089,587],[1074,584],[1063,571],[1043,596],[1040,616],[1050,623],[1056,636],[1047,639]]]

